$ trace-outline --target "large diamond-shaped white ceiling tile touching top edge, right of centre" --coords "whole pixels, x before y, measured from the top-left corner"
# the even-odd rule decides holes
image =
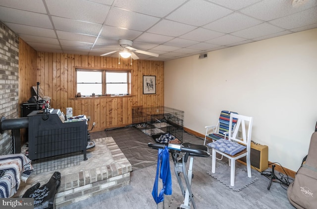
[[[190,0],[168,15],[166,19],[202,26],[231,12],[233,11],[205,0]]]

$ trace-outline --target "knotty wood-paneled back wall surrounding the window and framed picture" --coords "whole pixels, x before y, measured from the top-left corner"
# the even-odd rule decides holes
[[[88,56],[66,53],[37,52],[36,81],[51,106],[65,112],[73,108],[73,115],[91,116],[96,122],[94,131],[132,124],[132,106],[164,105],[164,62]],[[75,98],[75,68],[132,69],[132,91],[129,96]],[[156,94],[143,94],[143,75],[156,76]],[[35,83],[36,83],[35,81]]]

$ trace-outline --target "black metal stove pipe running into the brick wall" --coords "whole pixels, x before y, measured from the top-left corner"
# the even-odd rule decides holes
[[[29,127],[28,117],[5,119],[4,116],[2,115],[0,116],[0,134],[3,134],[5,130],[14,130],[14,129],[28,128],[28,127]]]

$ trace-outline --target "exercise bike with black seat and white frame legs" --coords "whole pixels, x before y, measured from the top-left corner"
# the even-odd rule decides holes
[[[210,154],[208,153],[208,148],[204,145],[196,145],[191,143],[183,143],[181,145],[148,143],[148,147],[153,149],[165,149],[165,146],[167,146],[168,151],[172,156],[175,175],[180,186],[182,195],[184,197],[184,204],[181,204],[180,207],[178,207],[177,209],[190,209],[191,205],[193,205],[193,208],[196,209],[194,195],[191,189],[194,157],[210,157]],[[189,168],[186,172],[186,163],[188,161],[188,157],[190,157]],[[184,175],[186,188],[182,183],[180,173],[183,173]]]

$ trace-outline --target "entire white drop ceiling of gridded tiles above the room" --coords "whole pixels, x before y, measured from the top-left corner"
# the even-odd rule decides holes
[[[317,28],[317,0],[0,0],[0,21],[36,51],[165,61]]]

